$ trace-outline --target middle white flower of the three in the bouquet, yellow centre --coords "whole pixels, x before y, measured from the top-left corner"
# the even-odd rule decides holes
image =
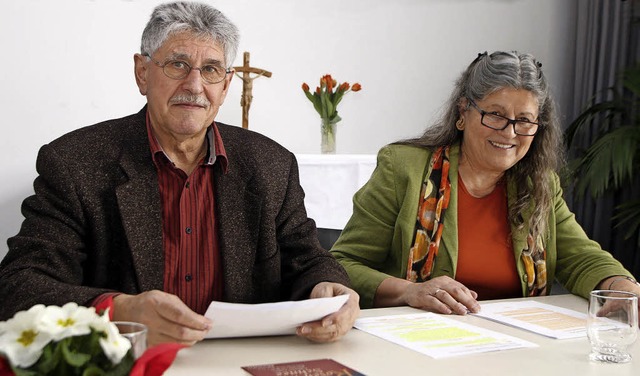
[[[91,333],[91,323],[98,319],[95,308],[67,303],[62,307],[49,306],[42,317],[41,328],[51,333],[54,341]]]

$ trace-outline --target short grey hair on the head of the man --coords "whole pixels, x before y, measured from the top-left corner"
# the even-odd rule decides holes
[[[240,42],[238,28],[219,10],[200,3],[179,1],[157,6],[142,32],[140,53],[153,55],[172,33],[181,31],[220,43],[224,50],[224,63],[231,68]]]

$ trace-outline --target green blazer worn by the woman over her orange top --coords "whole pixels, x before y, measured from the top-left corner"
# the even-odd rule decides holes
[[[444,231],[434,266],[433,277],[456,276],[458,259],[458,161],[460,148],[450,150],[449,178],[451,199],[445,213]],[[371,308],[376,289],[390,276],[405,278],[418,213],[420,188],[431,151],[407,145],[387,145],[378,153],[376,169],[370,180],[353,197],[353,215],[331,252],[345,267],[351,283],[360,294],[362,308]],[[631,274],[590,240],[576,222],[562,197],[557,175],[552,179],[554,202],[549,213],[549,229],[543,237],[547,251],[547,281],[554,279],[574,294],[587,297],[596,285],[612,275]],[[507,182],[509,205],[516,188]],[[522,213],[525,218],[530,210]],[[522,292],[527,276],[520,259],[526,248],[528,229],[512,227],[513,251]]]

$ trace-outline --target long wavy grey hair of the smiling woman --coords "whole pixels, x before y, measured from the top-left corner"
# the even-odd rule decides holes
[[[518,228],[523,227],[525,223],[520,213],[533,206],[534,212],[528,227],[537,236],[544,234],[548,225],[548,213],[553,202],[551,172],[561,167],[564,153],[556,105],[542,72],[542,64],[532,55],[502,51],[491,55],[486,52],[478,54],[456,81],[455,89],[446,103],[446,112],[440,120],[427,128],[421,137],[400,143],[436,148],[461,142],[463,132],[455,126],[460,118],[460,104],[464,103],[465,98],[481,101],[503,88],[528,90],[538,99],[538,133],[527,154],[506,172],[515,180],[518,190],[516,204],[509,208],[509,222]]]

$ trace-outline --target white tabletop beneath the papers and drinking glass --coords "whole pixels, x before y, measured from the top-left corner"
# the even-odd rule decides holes
[[[534,298],[586,312],[587,301],[574,295]],[[409,307],[363,310],[362,317],[421,312]],[[556,340],[472,315],[448,316],[539,345],[433,359],[353,329],[334,343],[315,344],[296,336],[205,340],[178,353],[165,375],[247,375],[240,367],[331,358],[369,376],[383,375],[535,375],[585,376],[640,374],[640,341],[627,364],[590,362],[587,338]]]

